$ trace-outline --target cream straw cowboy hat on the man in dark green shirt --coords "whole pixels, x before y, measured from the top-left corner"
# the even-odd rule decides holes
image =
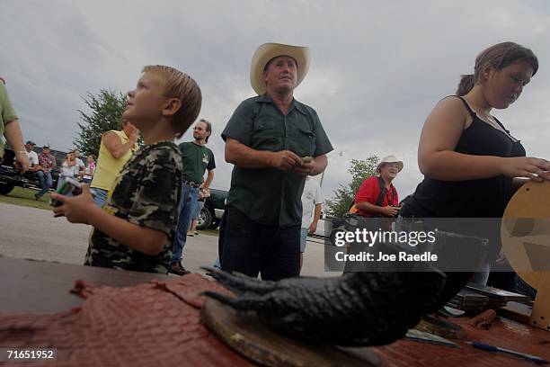
[[[297,63],[297,84],[299,85],[307,74],[311,56],[309,48],[302,46],[291,46],[282,43],[264,43],[256,49],[250,64],[250,84],[257,94],[265,93],[265,82],[263,81],[263,68],[271,60],[278,56],[289,56]]]

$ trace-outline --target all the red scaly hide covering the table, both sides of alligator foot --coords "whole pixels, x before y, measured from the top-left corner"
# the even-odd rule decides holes
[[[226,291],[198,274],[122,288],[77,282],[75,291],[86,299],[81,307],[49,315],[0,315],[0,347],[55,347],[56,365],[61,366],[251,365],[200,323],[200,308],[205,301],[200,292],[206,290]],[[496,318],[488,330],[480,330],[467,325],[470,319],[449,320],[465,328],[466,340],[550,360],[549,332],[506,318]],[[453,341],[462,347],[400,340],[371,350],[387,367],[536,365]]]

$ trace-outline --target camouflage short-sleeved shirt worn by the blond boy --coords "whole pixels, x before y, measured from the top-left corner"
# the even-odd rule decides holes
[[[182,192],[182,157],[172,142],[139,148],[122,167],[103,210],[167,235],[160,254],[145,255],[93,229],[84,264],[167,273]]]

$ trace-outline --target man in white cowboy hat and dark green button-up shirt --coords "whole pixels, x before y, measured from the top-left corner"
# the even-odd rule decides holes
[[[294,99],[310,54],[306,47],[264,43],[250,79],[258,94],[227,122],[226,161],[235,165],[220,226],[223,270],[264,280],[299,274],[301,195],[333,150],[315,110]]]

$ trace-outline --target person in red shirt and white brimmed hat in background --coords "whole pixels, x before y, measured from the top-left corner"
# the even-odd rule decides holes
[[[395,217],[399,213],[399,196],[392,184],[403,169],[403,162],[387,156],[377,166],[378,176],[368,177],[355,195],[357,214],[363,217]]]

